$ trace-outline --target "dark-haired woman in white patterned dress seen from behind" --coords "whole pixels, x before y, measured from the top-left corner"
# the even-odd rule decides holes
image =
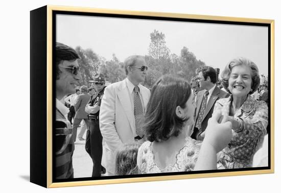
[[[190,137],[194,108],[187,81],[165,75],[154,84],[144,121],[148,141],[137,157],[142,174],[193,170],[201,146]]]

